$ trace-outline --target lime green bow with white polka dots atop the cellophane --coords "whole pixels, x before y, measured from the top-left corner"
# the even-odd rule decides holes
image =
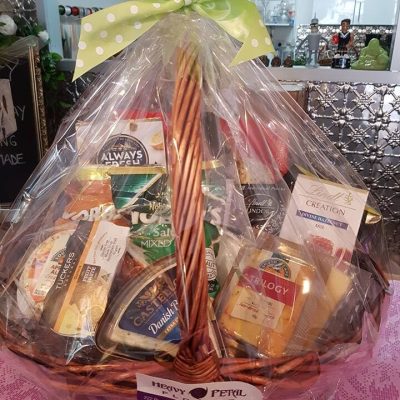
[[[214,20],[243,43],[232,65],[274,48],[254,3],[248,0],[126,1],[82,19],[74,79],[129,46],[163,16],[182,9]]]

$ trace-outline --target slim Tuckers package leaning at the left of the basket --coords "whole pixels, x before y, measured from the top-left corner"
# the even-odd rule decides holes
[[[44,300],[41,323],[66,336],[93,335],[125,253],[128,228],[80,222]]]

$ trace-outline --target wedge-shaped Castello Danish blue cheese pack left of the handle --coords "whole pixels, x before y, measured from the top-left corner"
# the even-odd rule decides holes
[[[175,357],[181,339],[172,258],[149,265],[114,298],[96,335],[106,353],[133,359]]]

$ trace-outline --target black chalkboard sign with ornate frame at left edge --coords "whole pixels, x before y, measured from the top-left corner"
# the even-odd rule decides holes
[[[39,57],[0,65],[0,204],[14,201],[47,147]]]

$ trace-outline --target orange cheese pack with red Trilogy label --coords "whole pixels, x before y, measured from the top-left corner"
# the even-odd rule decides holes
[[[257,250],[253,250],[257,253]],[[224,331],[260,354],[282,357],[317,284],[315,267],[279,252],[244,258],[243,274],[223,310]]]

